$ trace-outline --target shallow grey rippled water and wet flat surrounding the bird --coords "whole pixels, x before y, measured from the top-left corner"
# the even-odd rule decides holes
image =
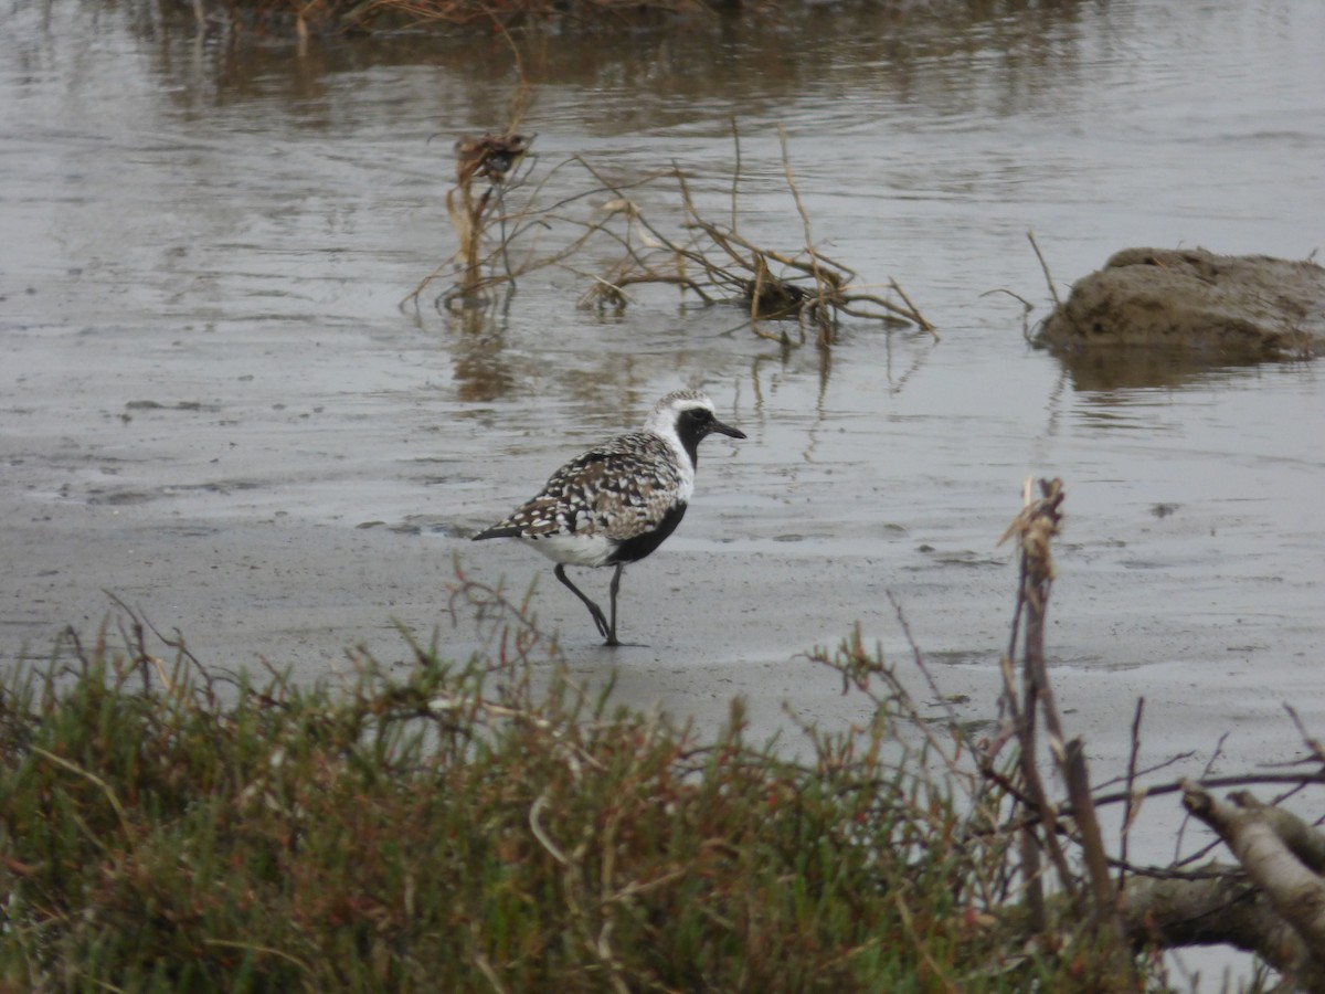
[[[1318,367],[1065,367],[999,290],[1047,311],[1030,229],[1060,293],[1130,245],[1314,252],[1325,7],[941,7],[525,53],[535,178],[572,154],[623,180],[676,162],[723,217],[735,119],[742,231],[795,250],[783,125],[820,250],[896,278],[942,335],[852,322],[829,354],[669,292],[586,313],[564,270],[492,311],[398,307],[453,248],[453,139],[505,121],[500,38],[299,54],[148,3],[12,4],[3,659],[94,631],[110,590],[204,659],[314,677],[344,645],[396,645],[392,618],[449,626],[458,551],[519,590],[541,575],[539,616],[639,702],[721,720],[746,693],[768,728],[782,700],[837,720],[798,653],[859,620],[905,656],[892,592],[988,716],[1014,584],[995,542],[1023,478],[1056,474],[1052,651],[1100,759],[1138,693],[1157,754],[1228,728],[1249,761],[1291,754],[1284,702],[1325,729]],[[566,170],[545,196],[584,188]],[[612,656],[541,559],[464,535],[680,386],[750,439],[706,443],[685,525],[623,587],[648,647]]]

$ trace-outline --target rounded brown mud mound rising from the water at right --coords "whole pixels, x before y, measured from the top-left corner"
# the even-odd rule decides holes
[[[1296,359],[1325,345],[1325,269],[1269,256],[1130,248],[1079,280],[1039,342]]]

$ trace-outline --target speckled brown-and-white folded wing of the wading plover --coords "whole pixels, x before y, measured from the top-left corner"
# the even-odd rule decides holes
[[[537,497],[489,531],[624,542],[655,529],[676,505],[680,488],[672,447],[652,432],[632,432],[567,463]]]

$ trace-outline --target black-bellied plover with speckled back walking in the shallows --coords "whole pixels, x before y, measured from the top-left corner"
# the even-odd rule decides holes
[[[616,640],[616,591],[621,570],[652,553],[685,516],[694,493],[700,443],[713,432],[743,439],[723,424],[713,402],[697,390],[678,390],[653,406],[644,431],[590,449],[553,473],[542,493],[489,529],[481,538],[519,538],[556,563],[556,579],[570,587],[607,639]],[[611,620],[566,575],[567,566],[615,566]]]

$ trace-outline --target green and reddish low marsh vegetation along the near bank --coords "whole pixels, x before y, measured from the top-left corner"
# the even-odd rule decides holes
[[[1026,944],[1003,795],[859,641],[818,657],[873,721],[792,759],[739,704],[701,740],[588,696],[457,596],[489,653],[335,687],[167,665],[136,622],[9,673],[0,989],[1124,989],[1072,909]]]

